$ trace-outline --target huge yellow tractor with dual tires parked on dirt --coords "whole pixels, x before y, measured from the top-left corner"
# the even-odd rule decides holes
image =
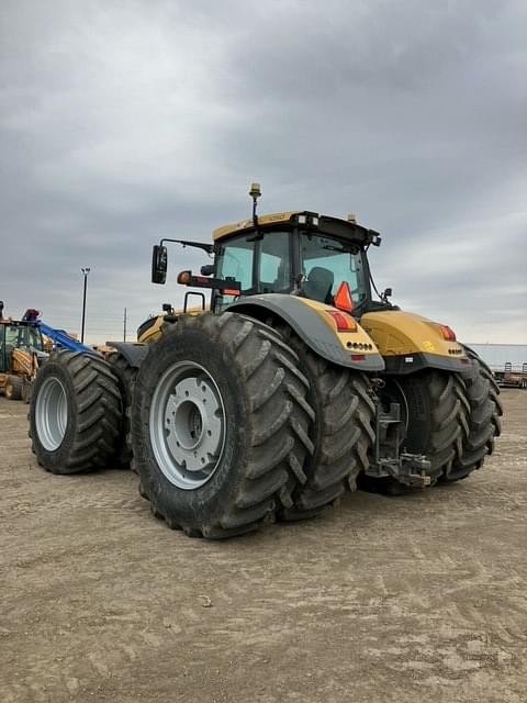
[[[211,244],[154,246],[155,283],[169,242],[212,257],[179,274],[199,289],[181,311],[164,305],[135,345],[109,343],[110,364],[63,352],[40,371],[40,464],[72,473],[119,450],[156,516],[210,538],[311,517],[357,484],[401,492],[479,469],[502,414],[489,368],[390,290],[373,299],[379,233],[351,216],[258,216],[259,194]]]

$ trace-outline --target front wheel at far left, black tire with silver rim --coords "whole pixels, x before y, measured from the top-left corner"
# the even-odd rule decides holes
[[[117,383],[102,358],[57,352],[33,384],[32,450],[52,473],[106,466],[115,455],[121,414]]]

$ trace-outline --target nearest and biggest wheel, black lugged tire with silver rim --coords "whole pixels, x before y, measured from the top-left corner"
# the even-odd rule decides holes
[[[150,346],[133,401],[133,466],[153,513],[222,538],[291,506],[313,451],[307,390],[267,325],[228,312],[180,317]]]

